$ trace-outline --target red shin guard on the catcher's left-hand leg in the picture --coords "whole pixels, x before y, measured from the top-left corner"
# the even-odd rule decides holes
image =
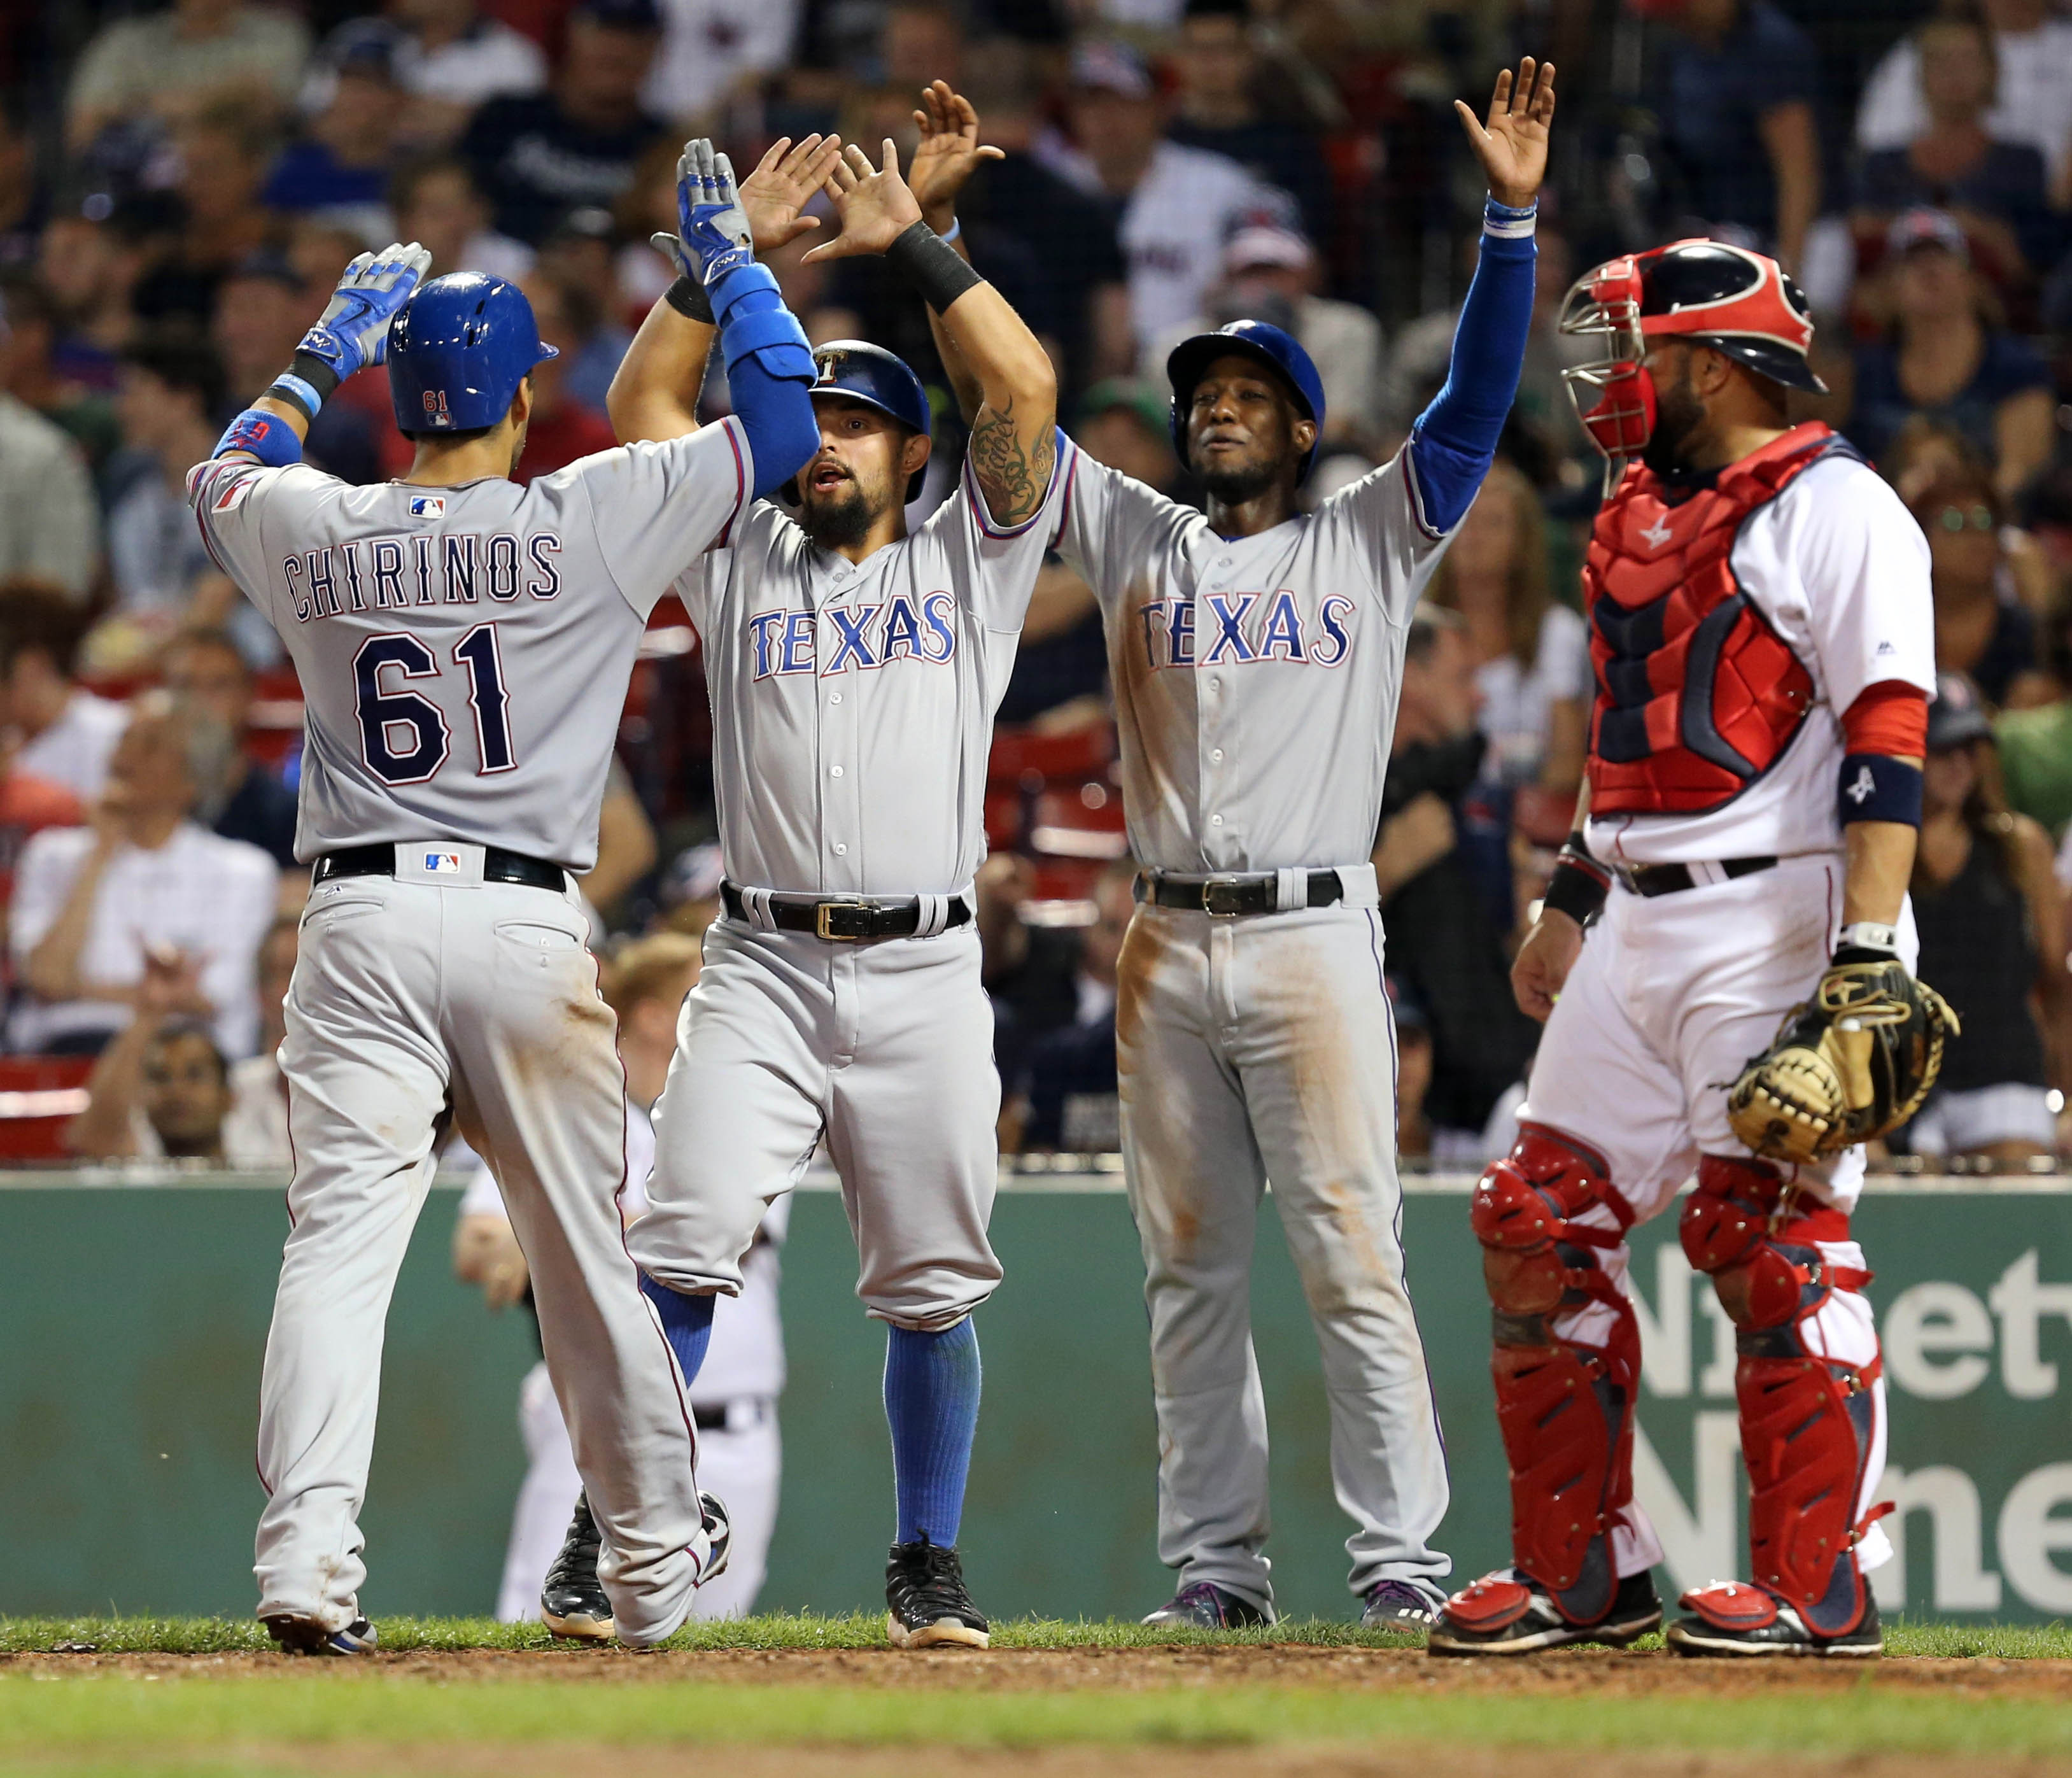
[[[1542,1125],[1475,1185],[1471,1221],[1496,1306],[1492,1376],[1510,1463],[1510,1552],[1571,1623],[1602,1618],[1618,1589],[1612,1525],[1633,1498],[1633,1407],[1641,1337],[1633,1306],[1598,1266],[1633,1210],[1604,1160]],[[1575,1218],[1602,1206],[1616,1229]],[[1560,1339],[1548,1318],[1602,1303],[1602,1345]]]

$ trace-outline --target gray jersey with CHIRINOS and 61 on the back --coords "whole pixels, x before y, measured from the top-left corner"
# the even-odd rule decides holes
[[[649,611],[750,489],[738,421],[524,487],[201,464],[209,553],[303,680],[296,858],[458,839],[588,870]]]

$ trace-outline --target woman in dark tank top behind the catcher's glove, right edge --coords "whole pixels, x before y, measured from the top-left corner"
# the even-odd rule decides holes
[[[1921,978],[1950,1001],[1964,1034],[1906,1125],[1906,1146],[1999,1163],[2051,1154],[2047,1088],[2072,1086],[2072,974],[2051,841],[2026,814],[2008,812],[1979,692],[1948,671],[1929,707],[1912,908]]]

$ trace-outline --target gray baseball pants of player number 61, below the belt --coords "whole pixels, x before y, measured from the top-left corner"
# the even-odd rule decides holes
[[[439,841],[441,852],[456,852]],[[574,891],[348,877],[303,916],[282,1069],[294,1183],[259,1401],[261,1614],[358,1614],[381,1332],[452,1105],[533,1272],[541,1345],[628,1641],[690,1612],[707,1554],[675,1361],[620,1237],[624,1073]],[[404,856],[419,848],[398,848]]]

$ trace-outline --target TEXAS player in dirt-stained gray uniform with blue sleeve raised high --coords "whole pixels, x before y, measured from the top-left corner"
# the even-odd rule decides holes
[[[1158,1409],[1148,1623],[1272,1621],[1266,1403],[1251,1243],[1274,1187],[1324,1355],[1330,1469],[1363,1623],[1421,1633],[1450,1560],[1423,1345],[1397,1239],[1394,1028],[1370,854],[1411,609],[1490,466],[1533,296],[1554,68],[1498,77],[1481,265],[1446,388],[1411,441],[1314,512],[1324,390],[1260,321],[1169,361],[1173,443],[1208,516],[1069,464],[1059,553],[1106,620],[1129,841],[1144,864],[1119,964],[1123,1163],[1144,1243]],[[943,95],[928,135],[970,128]],[[947,218],[937,216],[937,226]],[[955,342],[945,365],[963,392]],[[968,400],[968,394],[966,394]]]

